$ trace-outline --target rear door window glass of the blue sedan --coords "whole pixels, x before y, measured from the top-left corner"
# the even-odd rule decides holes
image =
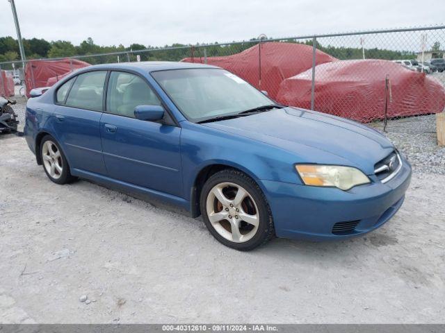
[[[66,105],[74,108],[102,111],[106,71],[90,71],[77,76]]]

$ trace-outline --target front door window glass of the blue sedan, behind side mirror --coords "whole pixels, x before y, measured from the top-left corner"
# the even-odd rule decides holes
[[[161,105],[145,80],[137,75],[113,71],[108,82],[106,111],[124,117],[134,117],[138,105]]]

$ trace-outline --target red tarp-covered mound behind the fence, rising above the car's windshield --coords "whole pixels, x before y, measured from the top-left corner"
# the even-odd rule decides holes
[[[261,43],[261,83],[259,80],[259,44],[241,53],[224,57],[207,58],[208,65],[215,65],[248,81],[260,90],[266,90],[275,99],[280,83],[312,67],[312,46],[295,43]],[[336,58],[316,50],[316,64],[334,61]],[[185,62],[204,63],[203,57],[185,58]]]

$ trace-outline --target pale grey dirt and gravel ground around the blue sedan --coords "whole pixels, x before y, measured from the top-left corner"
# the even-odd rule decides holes
[[[250,253],[199,219],[55,185],[22,137],[0,138],[0,175],[0,323],[445,323],[439,174],[414,172],[401,210],[366,237]]]

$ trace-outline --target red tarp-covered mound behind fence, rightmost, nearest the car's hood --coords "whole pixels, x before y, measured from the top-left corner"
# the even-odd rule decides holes
[[[317,111],[357,121],[385,117],[385,78],[389,77],[392,101],[388,117],[442,112],[445,91],[441,83],[424,73],[388,60],[341,60],[316,66]],[[309,109],[312,70],[287,78],[277,101]]]

